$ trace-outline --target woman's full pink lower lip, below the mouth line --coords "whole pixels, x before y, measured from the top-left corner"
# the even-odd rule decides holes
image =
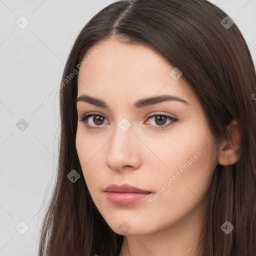
[[[105,192],[106,198],[109,202],[117,205],[130,205],[146,198],[148,193],[117,193],[117,192]]]

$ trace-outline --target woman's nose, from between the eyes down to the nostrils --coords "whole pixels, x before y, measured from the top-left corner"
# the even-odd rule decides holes
[[[118,126],[107,143],[106,165],[115,171],[137,169],[141,164],[141,141],[133,134],[132,126],[123,131]]]

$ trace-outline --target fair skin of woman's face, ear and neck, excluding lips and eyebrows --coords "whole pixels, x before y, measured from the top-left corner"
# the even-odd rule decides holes
[[[101,99],[108,108],[78,101],[78,118],[95,112],[87,119],[95,128],[88,129],[85,121],[78,120],[75,141],[92,200],[110,228],[124,235],[119,256],[194,255],[214,168],[217,163],[237,161],[238,142],[216,146],[187,80],[183,76],[174,80],[169,75],[174,66],[152,48],[107,39],[85,55],[95,48],[99,52],[79,71],[77,97]],[[173,100],[133,106],[139,99],[163,94],[187,103]],[[97,114],[104,118],[96,119]],[[178,120],[166,118],[161,124],[157,116],[149,118],[148,114]],[[131,124],[126,131],[118,126],[123,118]],[[166,185],[185,163],[189,166]],[[149,190],[151,201],[146,197],[132,205],[115,205],[103,192],[111,183]],[[159,189],[162,193],[154,196]],[[123,221],[128,231],[119,229]]]

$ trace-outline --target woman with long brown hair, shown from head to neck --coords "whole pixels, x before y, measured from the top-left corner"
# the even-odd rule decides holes
[[[77,36],[39,255],[256,253],[256,75],[206,0],[116,1]]]

